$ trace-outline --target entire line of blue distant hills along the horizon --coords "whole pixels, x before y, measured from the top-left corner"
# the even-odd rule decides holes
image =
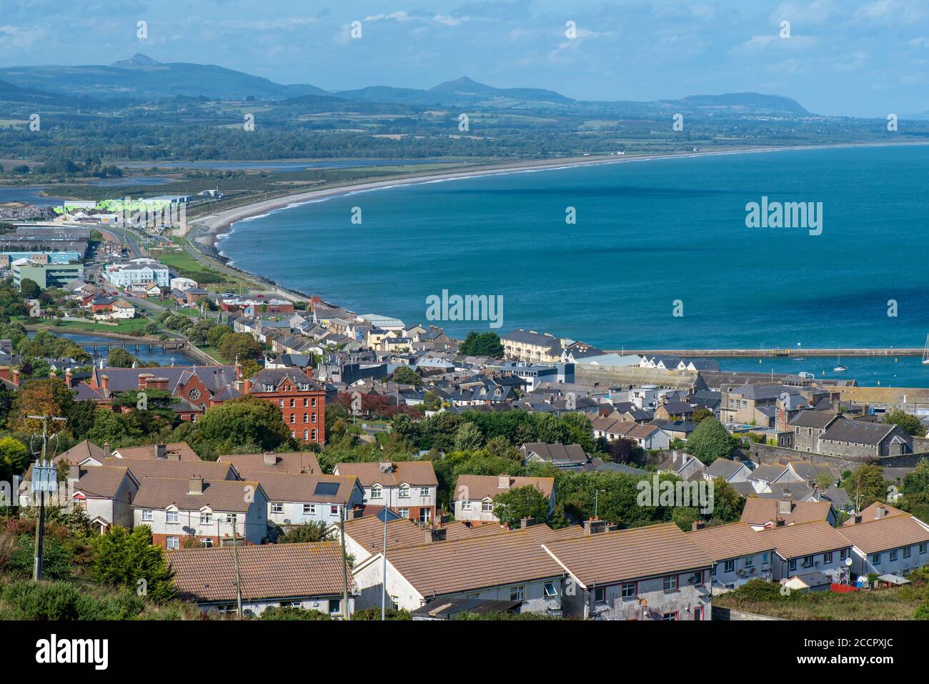
[[[655,103],[586,102],[565,97],[543,88],[497,88],[478,83],[466,76],[446,81],[429,89],[370,85],[354,90],[328,91],[316,85],[281,85],[267,78],[216,66],[188,62],[160,62],[137,54],[109,66],[18,66],[0,68],[0,98],[15,101],[54,99],[161,99],[177,96],[209,99],[245,99],[290,101],[291,103],[333,100],[358,100],[404,105],[483,107],[532,106],[535,108],[585,108],[649,104],[661,109],[679,106],[687,111],[731,110],[740,113],[807,116],[796,100],[759,93],[696,95]]]

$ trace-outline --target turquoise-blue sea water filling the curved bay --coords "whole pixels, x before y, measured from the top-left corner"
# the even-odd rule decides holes
[[[922,347],[926,178],[923,146],[575,166],[302,204],[235,224],[221,249],[243,270],[405,322],[426,323],[426,297],[445,289],[503,296],[497,332],[531,328],[604,349]],[[822,203],[822,234],[746,228],[746,204],[763,196]],[[820,375],[831,361],[791,367]],[[904,360],[870,361],[886,378]],[[856,363],[844,363],[849,375]],[[906,363],[907,382],[893,384],[929,385],[929,367]],[[737,366],[767,370],[724,365]]]

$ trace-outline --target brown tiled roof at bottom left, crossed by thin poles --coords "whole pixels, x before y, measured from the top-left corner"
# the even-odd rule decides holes
[[[239,546],[242,599],[339,596],[343,591],[342,549],[334,542]],[[231,546],[168,551],[181,598],[234,601],[235,559]],[[354,591],[351,572],[348,590]]]

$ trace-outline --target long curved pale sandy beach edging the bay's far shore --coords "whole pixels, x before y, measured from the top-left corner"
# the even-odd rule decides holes
[[[798,145],[792,147],[767,147],[767,148],[738,148],[732,150],[713,150],[713,151],[695,151],[695,152],[678,152],[674,154],[643,154],[635,155],[610,155],[601,157],[567,157],[564,159],[544,159],[535,162],[515,162],[512,164],[492,164],[467,169],[464,171],[454,171],[449,173],[437,174],[419,174],[408,178],[392,178],[390,180],[380,180],[368,183],[346,184],[324,190],[297,192],[282,197],[275,197],[269,200],[262,200],[251,204],[243,204],[232,209],[219,211],[215,214],[209,214],[204,217],[198,217],[190,222],[191,227],[201,227],[205,234],[197,238],[197,242],[203,245],[216,247],[216,239],[219,235],[227,232],[229,227],[236,221],[243,218],[258,217],[268,214],[269,212],[283,209],[296,204],[307,202],[316,202],[327,197],[336,197],[354,192],[373,191],[382,188],[393,188],[400,185],[414,185],[416,183],[430,183],[440,180],[454,180],[462,178],[477,178],[479,176],[495,176],[513,173],[530,173],[535,171],[555,170],[567,168],[569,166],[593,166],[597,164],[628,164],[633,162],[648,162],[660,159],[689,159],[693,157],[710,157],[721,154],[751,154],[758,152],[773,151],[795,151],[795,150],[821,150],[848,147],[887,147],[891,145],[927,145],[927,142],[904,142],[904,143],[846,143],[838,145]]]

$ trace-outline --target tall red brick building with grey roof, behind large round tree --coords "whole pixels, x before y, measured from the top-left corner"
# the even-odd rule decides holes
[[[299,368],[266,368],[246,381],[248,392],[281,408],[296,441],[326,441],[326,390]]]

